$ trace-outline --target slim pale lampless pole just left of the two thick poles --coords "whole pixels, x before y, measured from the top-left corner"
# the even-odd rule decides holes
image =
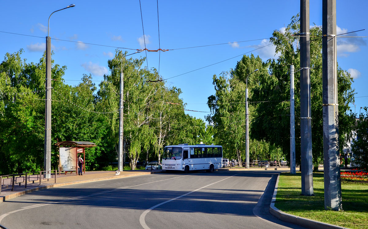
[[[295,112],[294,112],[294,65],[290,64],[290,173],[295,169]]]

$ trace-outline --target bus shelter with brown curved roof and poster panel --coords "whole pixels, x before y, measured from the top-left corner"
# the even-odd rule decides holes
[[[59,175],[60,172],[75,172],[78,174],[78,155],[83,154],[83,162],[85,164],[85,148],[97,146],[90,141],[61,141],[57,142],[59,147]],[[85,166],[83,165],[83,172],[85,173]]]

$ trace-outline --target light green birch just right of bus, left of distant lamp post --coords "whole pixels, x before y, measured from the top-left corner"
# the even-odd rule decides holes
[[[213,85],[216,94],[208,97],[212,114],[206,119],[216,130],[215,141],[223,146],[224,156],[241,163],[246,150],[245,84],[223,72],[213,76]]]

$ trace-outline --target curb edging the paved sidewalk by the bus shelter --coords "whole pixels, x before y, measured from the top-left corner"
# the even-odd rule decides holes
[[[136,173],[136,174],[130,174],[130,175],[124,175],[124,176],[103,177],[103,178],[91,179],[91,180],[79,180],[79,181],[75,181],[75,182],[39,186],[39,187],[35,187],[33,189],[28,189],[28,190],[20,191],[18,193],[13,193],[13,194],[6,195],[6,196],[0,198],[0,204],[4,201],[19,197],[19,196],[27,194],[27,193],[32,193],[34,191],[39,191],[39,190],[42,190],[42,189],[51,189],[51,188],[67,186],[67,185],[71,185],[71,184],[81,184],[81,183],[96,182],[96,181],[101,181],[101,180],[120,179],[120,178],[131,177],[131,176],[149,175],[149,174],[153,174],[153,173],[155,173],[155,172],[152,172],[152,173],[142,172],[142,173]]]

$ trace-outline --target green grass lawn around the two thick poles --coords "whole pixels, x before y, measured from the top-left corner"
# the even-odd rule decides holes
[[[281,173],[275,207],[283,212],[338,226],[368,229],[368,183],[341,183],[343,211],[326,211],[323,173],[313,173],[315,196],[301,195],[301,173]]]

